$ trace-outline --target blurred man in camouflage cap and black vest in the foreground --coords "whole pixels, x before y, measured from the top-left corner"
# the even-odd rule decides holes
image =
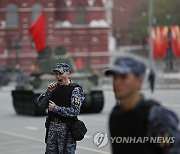
[[[110,115],[110,134],[113,138],[140,137],[143,140],[157,140],[155,143],[112,142],[112,153],[180,154],[177,116],[157,101],[146,100],[140,92],[145,71],[145,64],[131,57],[117,58],[114,65],[106,70],[106,75],[113,76],[113,89],[117,99],[117,105]]]

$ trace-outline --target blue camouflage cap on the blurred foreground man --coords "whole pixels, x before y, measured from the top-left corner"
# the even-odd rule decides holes
[[[116,59],[114,65],[105,71],[105,75],[113,75],[114,73],[127,74],[129,72],[135,73],[139,76],[144,76],[146,65],[134,58],[119,57]]]

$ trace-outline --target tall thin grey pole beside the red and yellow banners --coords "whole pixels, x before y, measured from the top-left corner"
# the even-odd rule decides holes
[[[153,38],[152,38],[153,0],[149,0],[149,63],[150,69],[154,70],[153,63]]]

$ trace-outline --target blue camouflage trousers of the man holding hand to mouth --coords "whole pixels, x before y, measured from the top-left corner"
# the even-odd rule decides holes
[[[46,143],[45,154],[63,154],[64,140],[66,135],[65,123],[51,122],[49,126],[48,139]],[[71,134],[68,134],[66,154],[75,154],[76,141],[72,139]]]

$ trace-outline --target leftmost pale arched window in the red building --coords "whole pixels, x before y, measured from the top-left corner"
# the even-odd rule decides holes
[[[18,28],[18,7],[14,3],[10,3],[6,7],[6,27]]]

